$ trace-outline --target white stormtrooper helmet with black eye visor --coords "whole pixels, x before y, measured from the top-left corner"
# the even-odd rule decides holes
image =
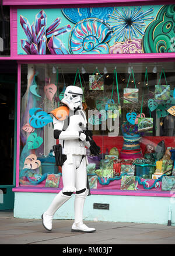
[[[76,87],[75,85],[69,85],[65,89],[64,98],[61,100],[61,102],[67,105],[71,110],[75,110],[78,107],[80,109],[83,109],[82,97],[83,97],[82,88]]]

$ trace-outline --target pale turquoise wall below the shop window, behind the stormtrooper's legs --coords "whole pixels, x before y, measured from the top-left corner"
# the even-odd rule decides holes
[[[15,192],[14,217],[41,219],[55,193]],[[93,209],[93,203],[109,203],[109,210]],[[167,224],[169,206],[175,226],[175,198],[153,196],[91,195],[85,201],[84,220]],[[74,220],[74,195],[55,213],[54,219]]]

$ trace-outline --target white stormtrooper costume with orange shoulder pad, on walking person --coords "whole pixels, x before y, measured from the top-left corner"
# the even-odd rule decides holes
[[[86,196],[89,194],[89,189],[87,188],[86,165],[88,162],[86,147],[89,148],[90,144],[86,141],[86,135],[80,125],[82,123],[86,127],[87,124],[85,112],[82,110],[82,96],[83,90],[81,88],[74,85],[68,86],[61,101],[68,107],[68,113],[66,115],[63,115],[62,112],[59,113],[61,107],[53,112],[54,138],[59,139],[64,156],[64,164],[62,165],[64,186],[42,215],[43,226],[48,231],[52,230],[54,213],[71,198],[74,192],[75,221],[71,231],[85,233],[95,231],[94,228],[89,228],[83,224],[83,206]],[[64,119],[64,116],[68,118]]]

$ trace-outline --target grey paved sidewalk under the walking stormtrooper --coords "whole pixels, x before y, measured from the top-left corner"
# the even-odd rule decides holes
[[[0,211],[0,244],[175,244],[175,226],[145,223],[89,222],[95,233],[72,233],[74,220],[53,220],[49,232],[36,219],[16,219]]]

